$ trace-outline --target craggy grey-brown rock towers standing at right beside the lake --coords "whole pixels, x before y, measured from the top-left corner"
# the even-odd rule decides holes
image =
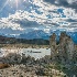
[[[73,40],[66,34],[66,32],[62,32],[59,36],[59,44],[56,45],[56,34],[50,38],[50,46],[51,46],[51,56],[55,58],[54,61],[58,59],[61,63],[70,63],[73,61],[73,55],[75,52],[75,45]]]

